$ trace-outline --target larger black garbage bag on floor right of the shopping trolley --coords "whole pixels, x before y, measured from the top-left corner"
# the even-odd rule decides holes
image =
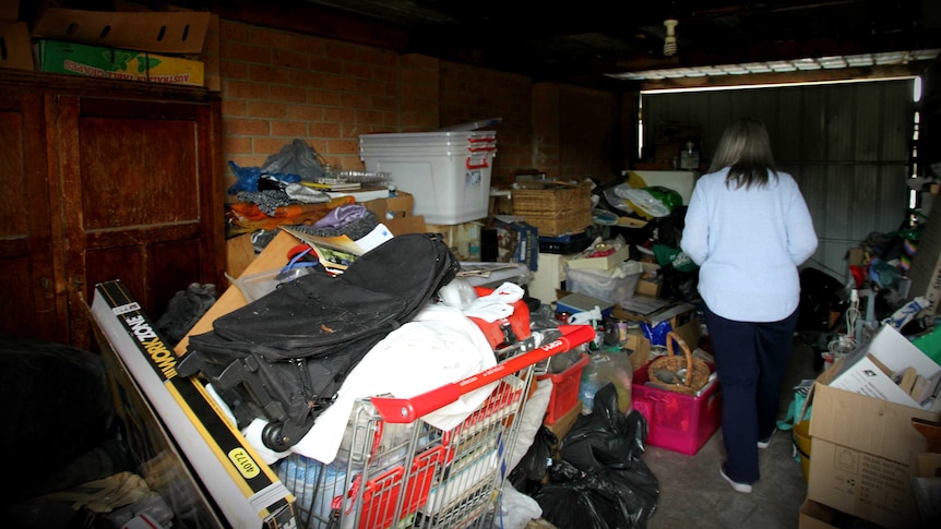
[[[641,460],[646,419],[618,410],[612,384],[595,394],[592,414],[562,440],[561,460],[533,498],[556,527],[646,528],[656,512],[659,483]]]

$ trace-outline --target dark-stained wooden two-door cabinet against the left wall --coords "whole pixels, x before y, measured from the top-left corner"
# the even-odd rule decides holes
[[[221,285],[219,122],[201,88],[0,70],[0,333],[92,348],[97,282],[154,320]]]

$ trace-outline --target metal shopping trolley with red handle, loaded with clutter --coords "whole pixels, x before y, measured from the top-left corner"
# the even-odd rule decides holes
[[[512,469],[534,369],[595,338],[587,325],[462,381],[412,398],[360,399],[331,465],[293,454],[275,472],[295,495],[302,528],[487,527]],[[492,385],[484,404],[443,431],[422,420]],[[535,389],[533,387],[532,389]]]

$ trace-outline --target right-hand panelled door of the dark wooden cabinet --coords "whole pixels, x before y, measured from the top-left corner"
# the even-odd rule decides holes
[[[90,341],[83,304],[121,279],[157,320],[191,284],[218,284],[223,211],[214,176],[217,107],[58,96],[59,171],[72,342]]]

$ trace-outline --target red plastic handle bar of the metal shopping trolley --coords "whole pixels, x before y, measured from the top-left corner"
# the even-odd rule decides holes
[[[595,339],[595,329],[591,325],[560,325],[559,330],[562,332],[562,336],[558,339],[532,351],[509,358],[462,381],[445,384],[410,398],[371,397],[369,400],[385,422],[414,422],[422,416],[456,401],[462,395],[528,368],[552,354],[565,352],[573,347]]]

